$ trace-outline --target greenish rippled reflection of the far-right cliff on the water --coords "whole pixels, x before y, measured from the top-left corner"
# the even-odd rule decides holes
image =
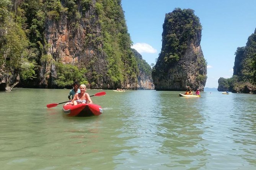
[[[236,143],[237,147],[233,148],[236,152],[235,156],[242,157],[249,164],[256,165],[255,144],[256,144],[256,114],[253,113],[256,109],[254,104],[256,98],[254,95],[237,95],[233,97],[233,101],[237,104],[234,106],[235,112],[232,112],[234,125],[230,127],[232,135],[230,139]]]

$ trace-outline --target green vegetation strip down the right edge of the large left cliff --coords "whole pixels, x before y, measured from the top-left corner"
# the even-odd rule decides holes
[[[128,77],[137,82],[138,66],[130,49],[121,0],[99,0],[99,19],[103,31],[103,50],[107,54],[108,73],[114,87],[122,87]]]

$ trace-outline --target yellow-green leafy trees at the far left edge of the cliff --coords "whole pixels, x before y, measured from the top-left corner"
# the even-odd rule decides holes
[[[11,6],[10,0],[0,1],[0,74],[8,76],[22,70],[21,79],[27,79],[33,77],[33,70],[30,71],[34,63],[29,63],[24,53],[29,43],[22,27],[24,22],[15,16]]]

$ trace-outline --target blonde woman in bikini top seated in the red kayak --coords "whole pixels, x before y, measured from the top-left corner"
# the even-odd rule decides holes
[[[91,98],[89,96],[88,93],[85,93],[86,91],[86,86],[84,84],[80,85],[80,93],[76,93],[73,100],[71,102],[68,102],[65,104],[65,106],[67,104],[72,104],[72,105],[77,105],[80,103],[89,103],[89,104],[93,104],[93,101],[91,101]]]

